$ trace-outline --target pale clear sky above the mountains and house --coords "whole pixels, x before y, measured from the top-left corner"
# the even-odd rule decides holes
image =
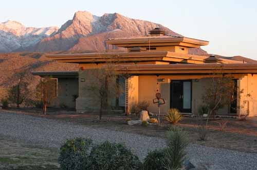
[[[257,59],[255,0],[7,0],[1,2],[0,22],[16,20],[29,27],[61,27],[76,11],[101,16],[120,13],[149,20],[191,38],[210,41],[208,53]]]

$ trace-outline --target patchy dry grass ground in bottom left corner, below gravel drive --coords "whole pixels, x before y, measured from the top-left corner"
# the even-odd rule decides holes
[[[48,170],[60,169],[57,148],[42,148],[0,136],[0,169]]]

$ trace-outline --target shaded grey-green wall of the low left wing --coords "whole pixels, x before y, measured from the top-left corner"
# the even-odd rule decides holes
[[[79,95],[78,78],[58,78],[57,98],[54,105],[65,104],[68,108],[75,108],[75,96]]]

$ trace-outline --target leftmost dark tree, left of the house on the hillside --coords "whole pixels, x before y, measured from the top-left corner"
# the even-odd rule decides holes
[[[11,103],[15,103],[17,108],[20,108],[20,105],[26,101],[29,97],[28,82],[26,82],[26,73],[20,73],[17,75],[18,83],[12,86],[8,91],[8,100]]]

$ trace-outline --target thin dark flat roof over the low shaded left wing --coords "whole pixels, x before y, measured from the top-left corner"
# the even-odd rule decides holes
[[[78,71],[42,71],[42,72],[31,72],[32,75],[40,77],[52,77],[52,78],[77,78],[79,77]]]

